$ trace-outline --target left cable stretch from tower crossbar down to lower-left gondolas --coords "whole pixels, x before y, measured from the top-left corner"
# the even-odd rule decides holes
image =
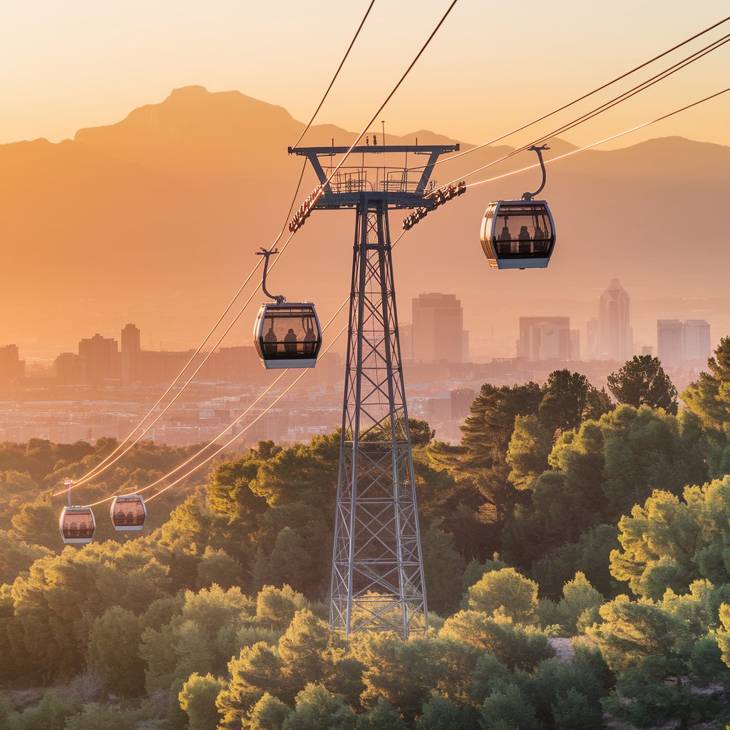
[[[306,166],[307,166],[307,161],[304,161],[304,164],[302,164],[302,166],[301,166],[301,173],[299,174],[299,182],[296,185],[296,191],[294,191],[294,194],[293,194],[292,199],[291,199],[291,204],[289,205],[289,211],[288,211],[288,213],[286,215],[286,220],[284,222],[284,225],[283,225],[281,231],[279,232],[279,235],[276,237],[276,239],[274,239],[274,242],[272,244],[272,247],[275,246],[275,245],[277,245],[277,242],[279,242],[279,239],[283,236],[284,231],[286,230],[286,226],[287,226],[289,217],[291,216],[291,211],[294,209],[294,204],[296,203],[296,197],[299,195],[299,188],[301,188],[301,180],[304,178],[304,169],[306,168]],[[289,239],[285,243],[284,247],[282,248],[281,253],[284,253],[284,250],[288,246],[289,241],[291,241],[291,236],[289,237]],[[276,262],[274,261],[274,264],[275,263]],[[272,264],[272,266],[269,267],[269,268],[272,268],[274,266],[274,264]],[[150,415],[153,415],[153,413],[155,412],[155,409],[158,407],[159,404],[161,404],[161,402],[164,400],[165,396],[168,395],[170,391],[172,391],[172,388],[174,388],[174,385],[176,385],[178,383],[178,381],[180,380],[180,378],[183,377],[183,374],[185,374],[185,371],[188,369],[188,367],[191,365],[191,363],[195,360],[195,358],[200,354],[201,350],[206,345],[206,343],[208,342],[208,340],[210,339],[210,337],[212,337],[213,332],[215,332],[215,330],[218,328],[218,326],[220,326],[220,323],[226,317],[226,315],[228,314],[228,312],[231,311],[231,307],[233,307],[233,305],[236,302],[236,300],[239,298],[239,296],[241,296],[241,294],[244,291],[246,285],[250,282],[251,277],[253,277],[253,274],[255,274],[256,269],[258,269],[258,266],[260,266],[260,265],[261,265],[261,261],[260,260],[259,261],[256,261],[256,265],[253,267],[253,269],[251,270],[250,274],[248,274],[248,276],[246,277],[245,282],[241,285],[241,287],[239,288],[239,290],[236,292],[236,295],[234,296],[234,298],[231,299],[230,303],[228,304],[228,307],[226,307],[226,310],[223,312],[222,315],[220,315],[220,318],[218,318],[218,321],[211,328],[210,332],[207,334],[207,336],[205,337],[205,339],[203,340],[203,342],[201,342],[200,347],[198,347],[198,349],[193,354],[193,356],[191,356],[191,358],[188,360],[188,362],[185,363],[185,365],[183,366],[183,369],[180,370],[180,372],[177,374],[177,376],[175,377],[175,379],[172,381],[172,383],[170,383],[169,387],[160,396],[160,398],[153,405],[153,407],[150,409],[150,411],[147,412],[147,415],[145,415],[145,417],[142,418],[142,420],[137,424],[137,426],[135,426],[135,428],[131,432],[131,434],[129,434],[129,436],[126,437],[126,439],[123,439],[123,441],[120,442],[120,444],[115,448],[115,450],[113,450],[112,453],[110,453],[102,461],[100,461],[99,464],[96,464],[96,466],[94,466],[93,469],[91,469],[89,472],[87,472],[80,479],[74,480],[74,483],[71,486],[71,489],[73,489],[73,488],[75,488],[77,486],[81,486],[81,485],[83,485],[85,483],[88,483],[92,479],[96,479],[96,477],[98,477],[99,475],[101,475],[102,472],[105,472],[107,469],[110,468],[110,466],[112,466],[113,464],[116,464],[116,462],[119,461],[120,458],[122,458],[126,453],[128,453],[128,451],[131,450],[131,448],[133,448],[135,445],[137,445],[137,443],[139,443],[139,441],[141,441],[142,438],[145,437],[145,435],[150,431],[150,429],[152,429],[153,426],[155,426],[155,423],[157,423],[158,420],[160,420],[160,418],[162,418],[162,416],[165,415],[165,413],[170,409],[170,407],[172,407],[172,404],[174,404],[177,401],[177,399],[183,394],[183,392],[185,391],[185,389],[188,388],[188,385],[191,384],[191,382],[193,381],[193,379],[200,372],[200,370],[204,366],[204,364],[207,363],[207,361],[209,360],[210,356],[212,356],[212,353],[215,352],[215,348],[218,347],[218,345],[220,345],[220,342],[223,341],[223,337],[226,337],[226,334],[228,334],[228,332],[231,331],[231,328],[233,328],[234,324],[237,323],[237,321],[239,320],[239,318],[243,314],[243,312],[246,309],[246,307],[248,306],[248,304],[250,304],[251,299],[253,299],[253,296],[255,295],[255,291],[247,299],[247,301],[243,305],[243,307],[239,310],[239,312],[235,316],[234,320],[228,325],[228,328],[226,328],[226,331],[223,332],[223,335],[218,339],[218,342],[216,342],[215,345],[213,345],[213,347],[211,347],[211,349],[207,352],[206,356],[203,358],[203,360],[201,361],[201,363],[199,364],[199,366],[196,368],[195,372],[193,372],[193,374],[191,375],[191,377],[189,377],[188,380],[184,383],[183,387],[180,388],[180,390],[178,390],[177,393],[175,393],[175,395],[172,398],[172,400],[169,401],[168,404],[166,404],[166,406],[164,407],[164,409],[161,410],[158,413],[158,415],[156,416],[156,418],[151,423],[149,423],[147,425],[147,427],[137,437],[134,438],[134,440],[132,440],[131,442],[129,442],[129,439],[132,438],[132,434],[134,434],[134,431],[137,431],[137,429],[141,429],[142,428],[142,426],[144,425],[144,423],[147,420],[147,418],[150,418]],[[125,448],[125,445],[126,445],[126,448]],[[69,491],[69,488],[65,488],[65,489],[59,490],[53,496],[58,496],[59,494],[64,494],[64,493],[67,493],[68,491]]]

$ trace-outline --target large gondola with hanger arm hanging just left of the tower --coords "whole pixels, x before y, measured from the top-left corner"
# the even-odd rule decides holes
[[[314,367],[322,346],[322,329],[315,305],[310,301],[296,304],[287,302],[284,296],[266,291],[266,271],[269,256],[274,251],[261,249],[266,257],[261,288],[274,301],[261,304],[253,325],[253,342],[267,369]]]

